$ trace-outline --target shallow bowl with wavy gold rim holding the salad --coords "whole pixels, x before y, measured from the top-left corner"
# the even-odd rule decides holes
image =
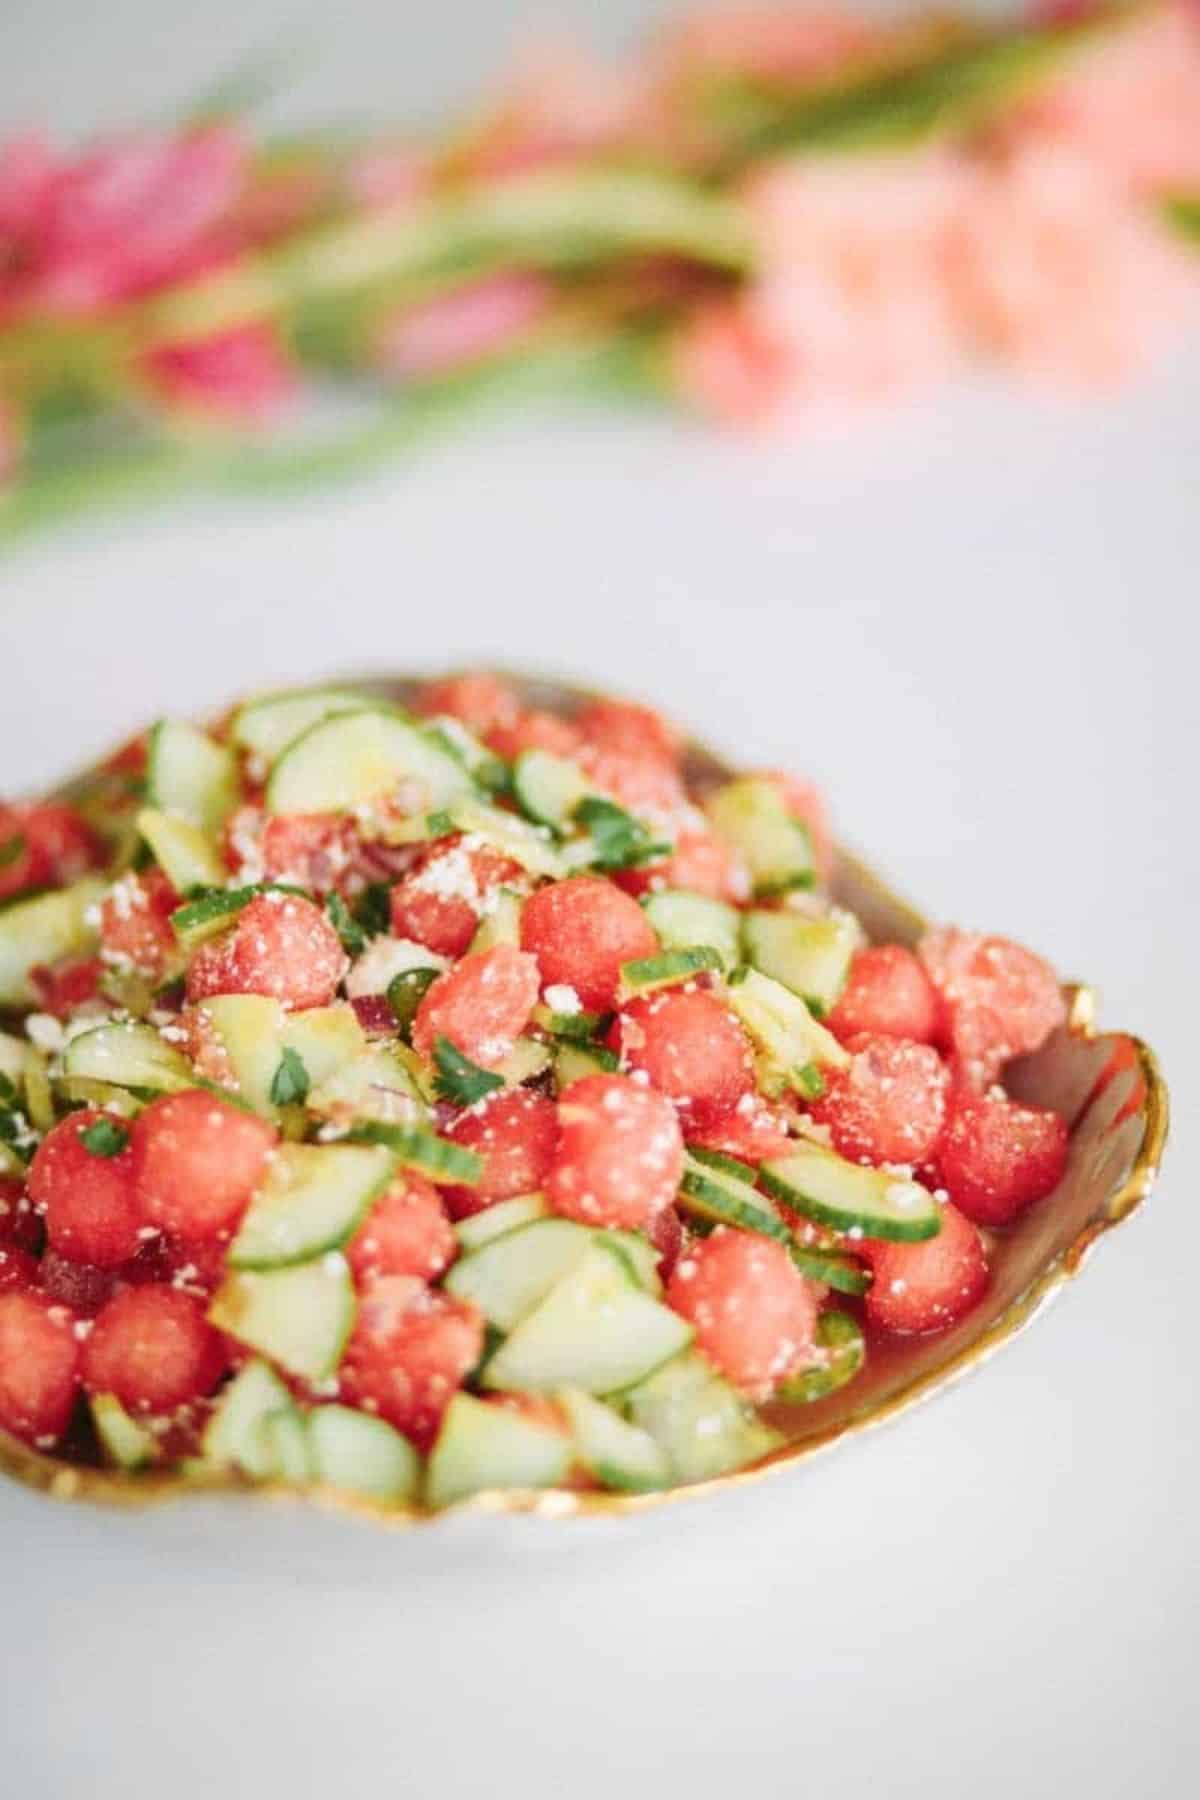
[[[583,689],[515,677],[531,704],[567,711]],[[405,679],[354,682],[389,698],[405,698]],[[689,749],[689,778],[698,787],[723,779],[729,765],[700,745]],[[83,778],[86,779],[86,778]],[[77,783],[61,792],[70,794]],[[892,895],[856,857],[840,853],[833,884],[873,940],[912,943],[925,920]],[[1070,986],[1069,1022],[1034,1055],[1011,1066],[1009,1091],[1060,1111],[1072,1127],[1067,1174],[1047,1201],[1013,1228],[991,1237],[991,1285],[984,1301],[957,1327],[928,1337],[873,1343],[867,1364],[847,1388],[810,1406],[775,1406],[772,1422],[786,1444],[748,1469],[694,1487],[658,1494],[486,1492],[437,1514],[536,1514],[542,1517],[617,1516],[763,1480],[828,1451],[858,1431],[883,1424],[979,1368],[1022,1332],[1078,1276],[1096,1244],[1150,1195],[1168,1132],[1168,1093],[1153,1051],[1123,1031],[1101,1031],[1087,986]],[[196,1481],[169,1472],[126,1476],[67,1463],[27,1449],[0,1431],[0,1471],[58,1499],[148,1505],[194,1492],[250,1498],[306,1498],[385,1525],[432,1523],[428,1514],[383,1508],[329,1489],[299,1496],[282,1487],[248,1487],[236,1476]]]

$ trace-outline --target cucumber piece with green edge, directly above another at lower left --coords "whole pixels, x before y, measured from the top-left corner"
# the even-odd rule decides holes
[[[338,1249],[390,1181],[389,1150],[286,1143],[228,1251],[232,1269],[282,1269]]]

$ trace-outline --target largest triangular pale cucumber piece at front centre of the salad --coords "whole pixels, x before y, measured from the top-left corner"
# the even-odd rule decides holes
[[[500,1345],[482,1382],[518,1393],[615,1393],[691,1339],[691,1325],[635,1287],[624,1256],[597,1242]]]

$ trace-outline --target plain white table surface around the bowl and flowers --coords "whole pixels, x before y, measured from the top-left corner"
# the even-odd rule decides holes
[[[419,31],[437,92],[470,13]],[[110,110],[148,101],[167,14],[74,14],[9,0],[0,117],[45,97],[88,122],[94,79]],[[180,20],[173,88],[219,22],[261,41],[284,14]],[[317,97],[347,104],[360,70],[381,106],[367,14],[329,29]],[[502,14],[480,14],[473,74]],[[398,41],[416,9],[389,18]],[[1177,1105],[1151,1208],[1049,1318],[765,1489],[621,1528],[407,1537],[0,1489],[14,1800],[1187,1789],[1198,490],[1200,344],[1099,403],[977,383],[792,446],[495,421],[347,493],[193,504],[0,562],[7,787],[133,720],[331,668],[493,657],[628,686],[822,778],[928,911],[1096,981]]]

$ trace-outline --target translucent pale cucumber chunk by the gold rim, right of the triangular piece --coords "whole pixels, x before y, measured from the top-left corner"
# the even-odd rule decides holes
[[[783,1444],[698,1350],[676,1355],[631,1388],[626,1411],[649,1433],[680,1483],[745,1469]]]

